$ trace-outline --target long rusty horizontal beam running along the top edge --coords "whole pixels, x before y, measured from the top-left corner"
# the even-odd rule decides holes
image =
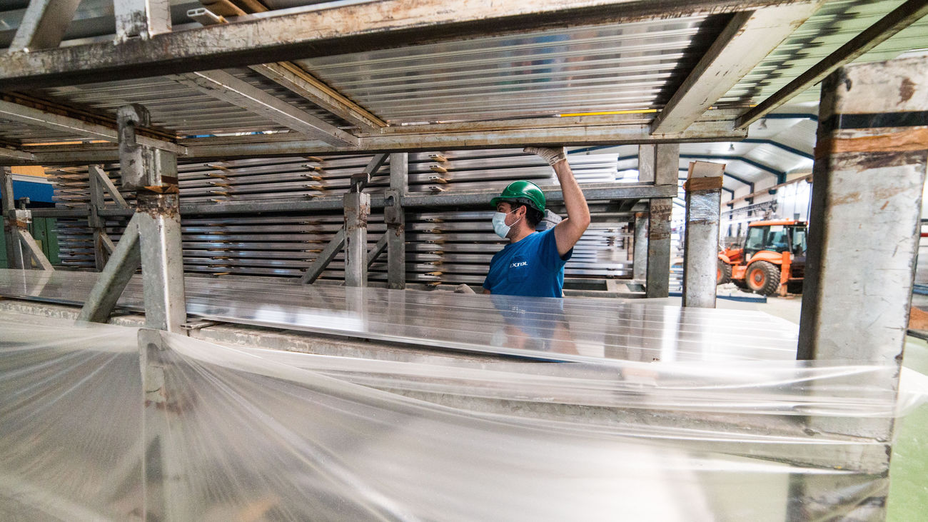
[[[735,12],[788,0],[383,0],[310,6],[286,15],[0,56],[6,89],[75,85],[225,69],[570,25]],[[384,16],[389,13],[390,16]]]

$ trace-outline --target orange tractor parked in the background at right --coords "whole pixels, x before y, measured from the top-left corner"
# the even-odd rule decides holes
[[[718,254],[715,282],[735,283],[755,294],[801,294],[806,275],[806,222],[754,221],[744,245]]]

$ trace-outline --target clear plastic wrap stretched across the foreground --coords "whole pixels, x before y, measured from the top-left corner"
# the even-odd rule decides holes
[[[156,335],[152,404],[135,329],[0,314],[0,518],[135,519],[147,494],[186,520],[829,519],[885,494],[868,464],[885,445],[808,426],[926,393],[906,374],[896,400],[878,366],[397,362]]]

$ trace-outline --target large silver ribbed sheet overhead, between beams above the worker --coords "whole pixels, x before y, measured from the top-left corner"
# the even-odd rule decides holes
[[[474,38],[301,60],[393,124],[657,108],[725,17]]]

